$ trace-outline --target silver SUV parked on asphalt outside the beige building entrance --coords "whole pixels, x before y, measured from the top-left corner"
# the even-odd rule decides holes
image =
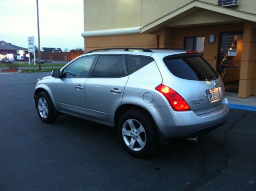
[[[87,52],[38,79],[34,100],[42,121],[65,113],[114,126],[126,151],[145,157],[171,138],[196,140],[222,126],[224,91],[196,52],[115,48]]]

